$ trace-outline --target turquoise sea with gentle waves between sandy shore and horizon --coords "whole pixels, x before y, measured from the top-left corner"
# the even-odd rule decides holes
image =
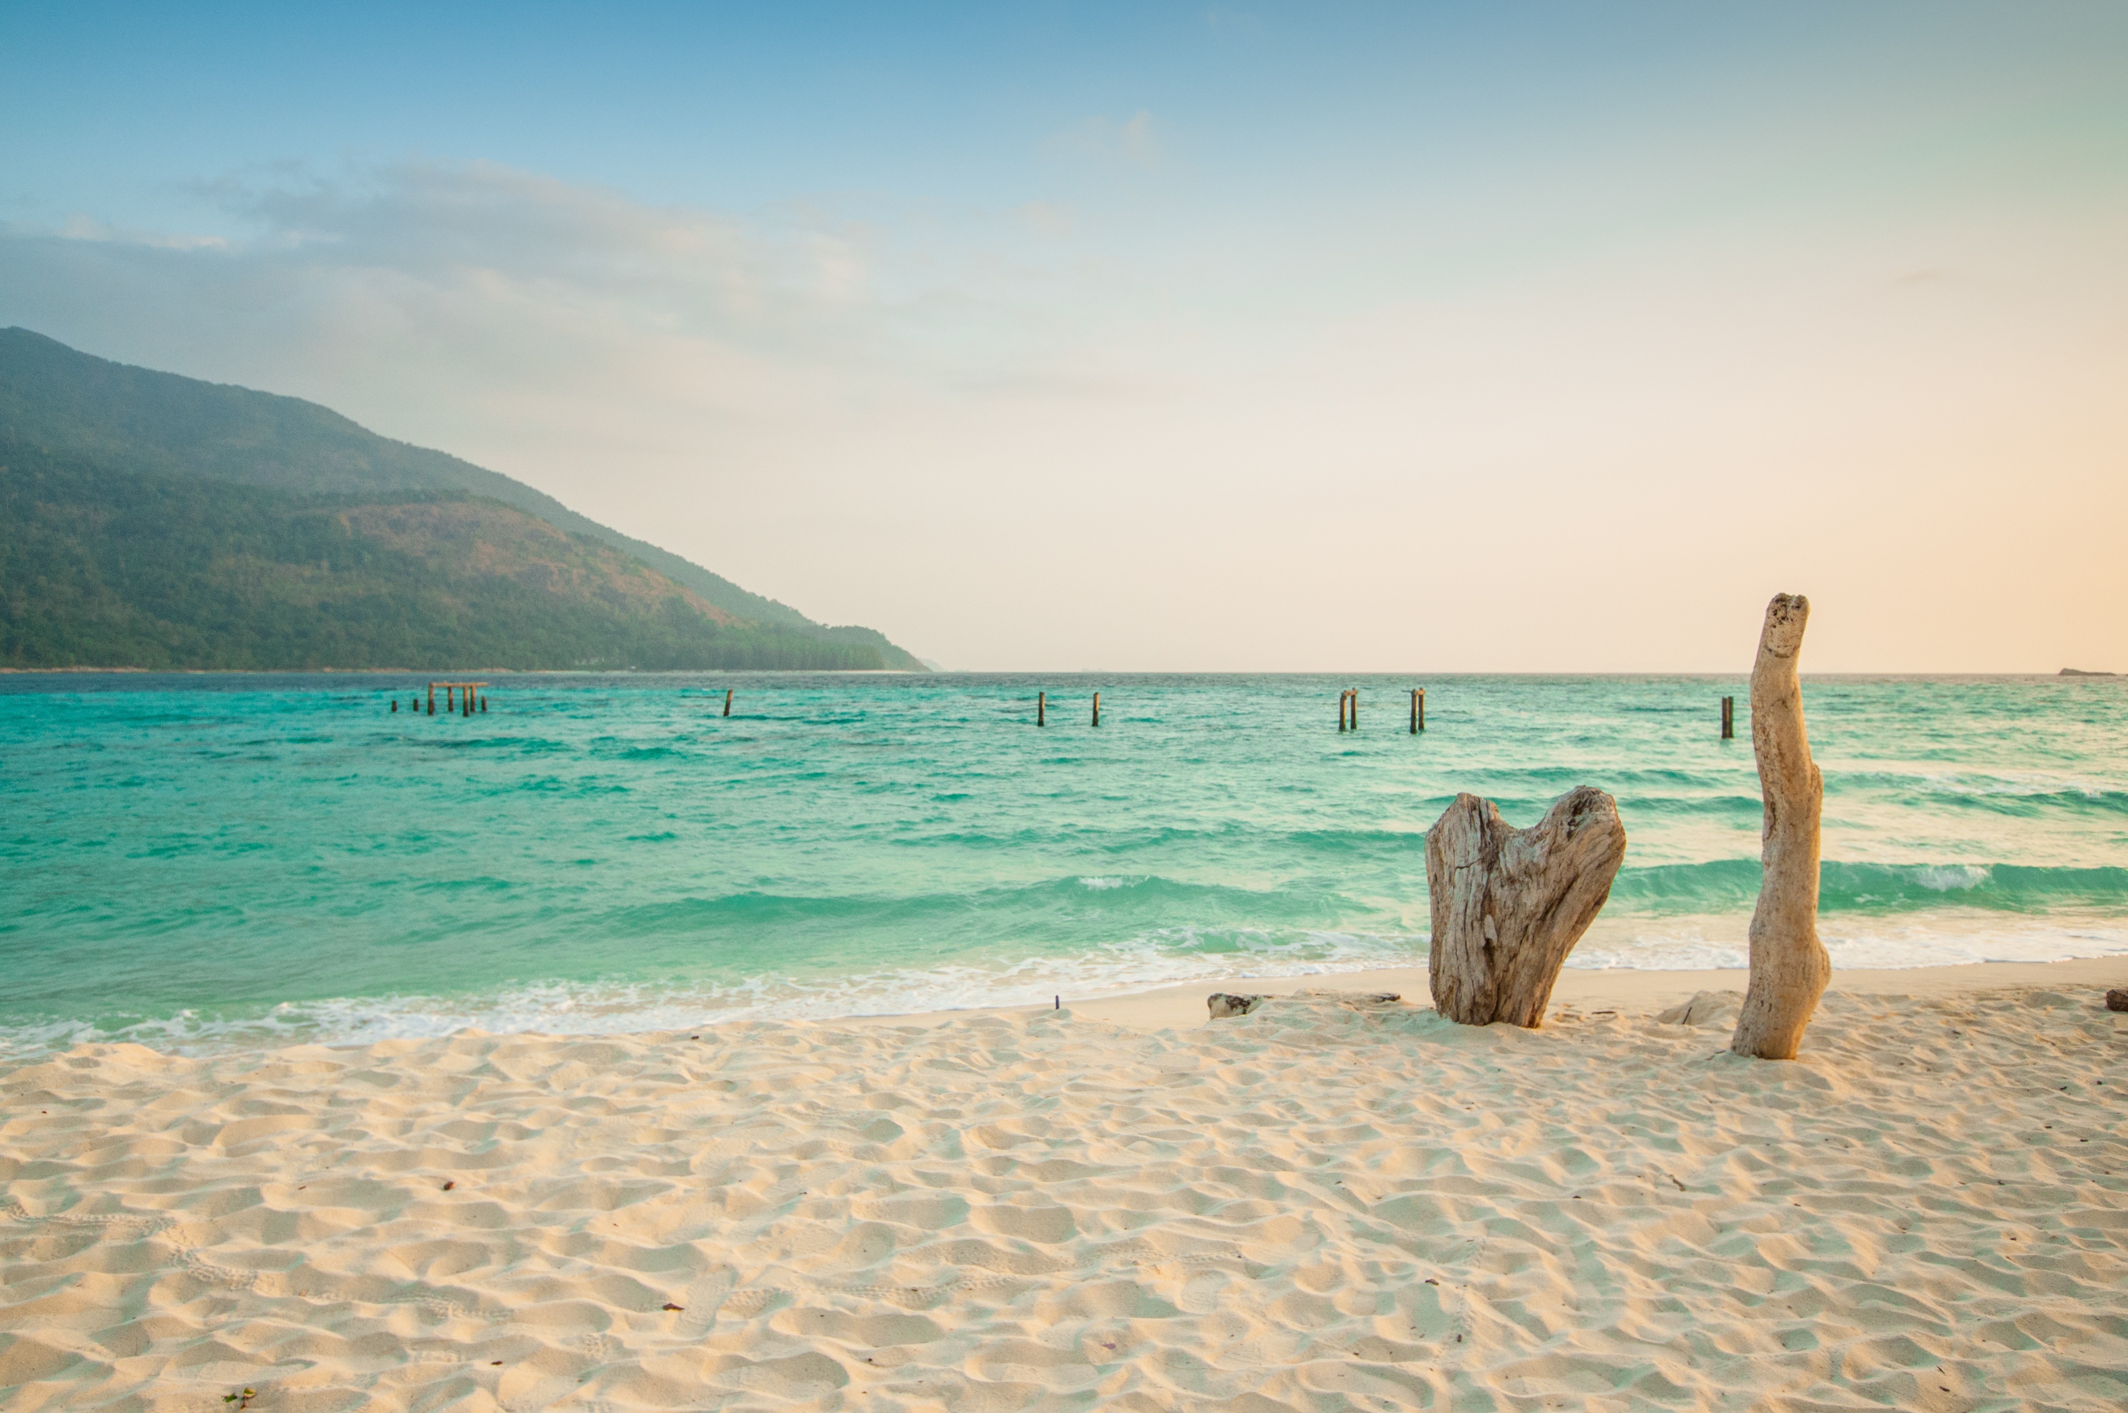
[[[1449,798],[1530,824],[1581,783],[1630,843],[1570,964],[1745,960],[1741,677],[496,675],[470,719],[409,713],[419,681],[0,677],[0,1049],[1424,964]],[[2128,679],[1830,677],[1805,702],[1834,966],[2128,953]]]

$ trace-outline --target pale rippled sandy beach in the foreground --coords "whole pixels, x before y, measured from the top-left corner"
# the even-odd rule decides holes
[[[17,1062],[0,1404],[2128,1407],[2128,962],[1741,983]]]

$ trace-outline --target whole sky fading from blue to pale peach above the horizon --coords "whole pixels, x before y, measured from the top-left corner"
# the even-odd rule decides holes
[[[968,670],[2128,670],[2128,6],[0,6],[0,326]]]

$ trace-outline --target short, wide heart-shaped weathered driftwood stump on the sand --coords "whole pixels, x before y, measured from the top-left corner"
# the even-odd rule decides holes
[[[1581,785],[1513,830],[1492,800],[1456,796],[1426,832],[1434,1009],[1464,1026],[1536,1028],[1551,985],[1626,860],[1617,800]]]

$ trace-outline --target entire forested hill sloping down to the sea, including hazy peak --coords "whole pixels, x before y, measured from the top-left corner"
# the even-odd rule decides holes
[[[0,664],[919,666],[313,402],[19,328],[0,330]]]

